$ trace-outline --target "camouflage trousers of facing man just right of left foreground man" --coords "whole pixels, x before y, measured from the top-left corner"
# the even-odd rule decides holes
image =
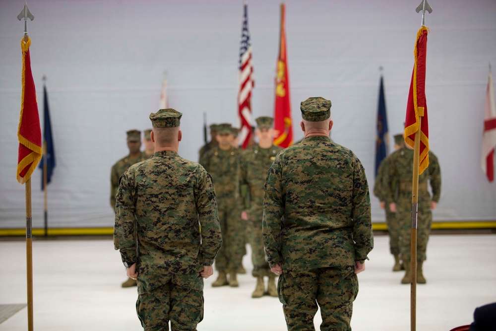
[[[246,249],[246,225],[241,219],[241,208],[236,199],[217,198],[217,210],[222,247],[215,258],[215,268],[219,271],[236,271],[241,266],[243,249]]]

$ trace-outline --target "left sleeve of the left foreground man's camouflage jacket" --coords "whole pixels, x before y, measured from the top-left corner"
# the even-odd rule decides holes
[[[114,247],[121,251],[126,261],[137,261],[135,225],[136,192],[134,172],[127,169],[122,176],[116,196],[116,219],[114,225]]]

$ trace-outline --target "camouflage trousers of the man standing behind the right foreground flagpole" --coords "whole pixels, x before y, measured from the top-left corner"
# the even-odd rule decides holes
[[[411,260],[412,197],[404,195],[396,202],[396,219],[400,234],[400,254],[402,260]],[[417,261],[427,259],[427,242],[431,234],[433,214],[431,199],[420,199],[417,215]]]

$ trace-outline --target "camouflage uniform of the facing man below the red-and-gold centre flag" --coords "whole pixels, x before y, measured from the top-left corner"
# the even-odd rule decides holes
[[[270,271],[262,238],[263,189],[269,168],[281,150],[281,147],[275,145],[261,148],[255,144],[242,154],[240,178],[241,183],[247,185],[248,189],[248,237],[253,277],[268,276]]]

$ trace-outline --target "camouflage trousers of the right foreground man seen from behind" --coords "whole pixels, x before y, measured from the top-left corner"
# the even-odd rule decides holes
[[[314,331],[313,317],[318,307],[322,316],[321,331],[351,331],[353,301],[358,294],[354,271],[355,266],[284,270],[279,276],[277,291],[288,331]]]

